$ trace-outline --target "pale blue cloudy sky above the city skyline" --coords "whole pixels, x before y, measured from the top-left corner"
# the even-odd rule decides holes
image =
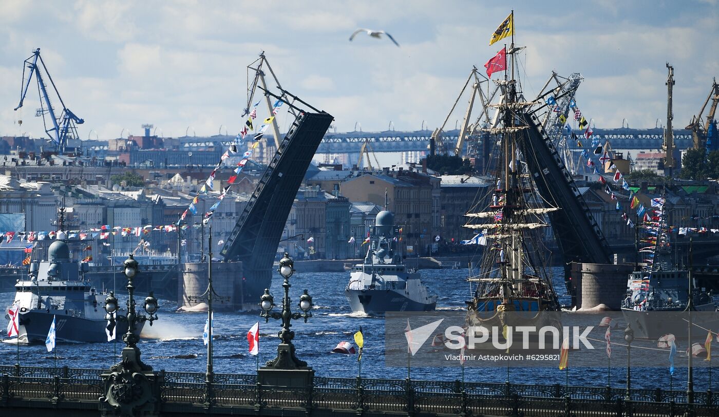
[[[683,128],[719,73],[717,0],[2,0],[0,136],[45,135],[37,87],[13,110],[37,47],[65,105],[85,119],[81,139],[142,134],[145,123],[163,137],[237,134],[247,65],[263,50],[282,86],[332,114],[337,132],[434,129],[472,65],[483,71],[501,49],[505,41],[489,40],[511,9],[526,96],[552,71],[581,73],[577,104],[595,127],[666,124],[669,62]],[[362,34],[349,42],[360,27],[400,47]],[[446,129],[462,122],[467,100]],[[278,120],[283,131],[291,123]]]

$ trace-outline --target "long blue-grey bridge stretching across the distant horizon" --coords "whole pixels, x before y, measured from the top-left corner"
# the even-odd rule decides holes
[[[324,153],[358,153],[367,139],[375,152],[415,152],[429,150],[429,138],[432,131],[429,129],[414,132],[400,132],[388,130],[385,132],[344,132],[327,133],[324,135],[318,154]],[[448,149],[454,147],[459,137],[459,130],[453,129],[442,134],[442,140]],[[661,148],[664,129],[594,129],[593,137],[604,143],[609,140],[612,148],[617,150],[658,150]],[[226,147],[234,143],[234,136],[217,134],[209,137],[184,136],[178,137],[180,146],[187,150],[203,150],[209,147]],[[692,146],[692,134],[688,130],[674,130],[674,145],[679,149]],[[107,142],[87,140],[83,147],[93,150],[106,150]],[[569,144],[574,149],[574,144]]]

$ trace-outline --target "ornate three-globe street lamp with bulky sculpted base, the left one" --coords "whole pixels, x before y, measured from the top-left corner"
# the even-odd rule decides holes
[[[127,322],[127,333],[122,336],[126,347],[122,349],[122,360],[110,367],[109,372],[102,374],[105,381],[105,395],[100,398],[101,408],[105,410],[120,410],[121,413],[132,415],[134,411],[152,411],[155,408],[157,399],[152,401],[152,387],[150,382],[155,379],[152,367],[145,365],[140,360],[140,352],[137,348],[139,342],[139,331],[136,331],[137,324],[157,320],[157,298],[150,295],[145,298],[143,308],[147,315],[138,313],[134,301],[133,278],[137,276],[137,261],[132,254],[123,262],[123,270],[127,277],[127,315],[121,316],[117,313],[118,301],[114,293],[110,293],[105,299],[104,309],[107,312],[106,319],[111,326],[116,321]],[[109,407],[108,407],[109,405]]]

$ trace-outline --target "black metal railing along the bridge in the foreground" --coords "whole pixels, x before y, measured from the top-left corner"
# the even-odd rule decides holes
[[[104,395],[104,370],[60,367],[0,366],[0,408],[32,403],[52,407],[58,402],[88,408]],[[155,372],[158,402],[165,413],[183,413],[193,407],[263,409],[267,415],[286,409],[312,413],[423,413],[508,416],[717,416],[719,399],[710,391],[631,390],[565,385],[493,382],[385,380],[375,378],[314,377],[306,388],[261,385],[257,375],[214,374],[210,384],[203,373]],[[40,400],[40,401],[39,401]],[[45,402],[42,402],[45,400]],[[40,404],[40,405],[39,405]],[[68,405],[65,404],[67,408]]]

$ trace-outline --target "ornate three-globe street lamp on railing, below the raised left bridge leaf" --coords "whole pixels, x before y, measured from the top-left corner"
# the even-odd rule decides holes
[[[295,356],[295,346],[292,344],[295,332],[290,330],[292,326],[290,321],[304,319],[305,323],[307,323],[307,319],[312,316],[312,297],[307,293],[307,290],[304,290],[304,293],[300,295],[300,302],[298,303],[298,307],[302,312],[293,313],[290,309],[290,277],[295,273],[295,268],[294,262],[290,259],[290,255],[287,252],[285,252],[285,255],[280,260],[278,272],[285,278],[282,284],[285,289],[285,297],[282,300],[282,311],[280,313],[272,311],[275,307],[275,300],[267,288],[265,288],[265,293],[260,297],[260,307],[262,308],[260,316],[265,318],[265,323],[270,321],[270,318],[282,320],[282,330],[280,330],[278,334],[281,342],[277,348],[277,357],[267,362],[265,369],[297,370],[306,368],[307,362],[301,361]]]

